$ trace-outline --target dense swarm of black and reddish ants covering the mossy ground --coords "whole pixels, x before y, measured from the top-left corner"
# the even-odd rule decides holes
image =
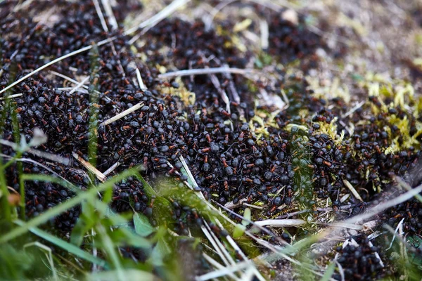
[[[239,202],[261,202],[265,207],[259,215],[261,218],[281,216],[284,213],[280,207],[293,204],[316,210],[316,201],[327,198],[338,217],[343,218],[345,212],[340,213],[340,209],[346,203],[341,203],[339,198],[350,192],[344,180],[359,190],[364,200],[360,202],[350,196],[347,204],[353,207],[347,216],[363,211],[365,202],[374,198],[373,190],[393,192],[392,175],[404,176],[412,186],[421,182],[420,178],[412,176],[421,156],[419,147],[410,147],[395,154],[385,153],[393,139],[398,137],[400,142],[402,138],[399,128],[391,124],[388,117],[407,118],[411,136],[416,133],[416,121],[421,121],[420,117],[416,120],[402,107],[392,107],[388,112],[374,115],[371,107],[381,108],[381,103],[378,98],[370,97],[364,106],[342,117],[350,110],[343,100],[314,98],[312,91],[306,90],[307,85],[302,78],[285,77],[282,70],[279,74],[283,78],[271,86],[261,81],[250,81],[240,74],[216,74],[219,89],[209,75],[163,81],[158,79],[160,67],[165,67],[167,71],[226,65],[245,68],[253,54],[238,51],[234,44],[229,44],[231,38],[228,35],[205,30],[200,20],[162,20],[130,45],[131,37],[123,34],[122,27],[113,32],[103,30],[91,1],[74,4],[62,0],[34,1],[14,13],[11,12],[12,3],[4,1],[0,4],[0,89],[60,55],[116,37],[113,40],[115,51],[111,44],[94,46],[94,51],[60,61],[10,91],[10,94],[22,93],[22,96],[13,98],[19,133],[27,142],[36,127],[48,136],[47,143],[39,150],[69,159],[75,152],[88,160],[88,145],[92,138],[89,133],[90,116],[94,113],[98,119],[98,170],[106,171],[119,162],[120,166],[113,172],[117,173],[141,164],[147,181],[170,176],[182,182],[187,179],[181,174],[179,157],[182,156],[206,200],[215,200],[223,205],[231,202],[236,208],[241,208]],[[34,22],[32,15],[41,13],[50,5],[56,7],[58,20],[45,24]],[[122,22],[129,11],[141,11],[142,8],[129,7],[126,1],[119,1],[119,6],[121,8],[116,9],[118,22]],[[271,40],[268,52],[271,55],[282,61],[307,56],[312,58],[313,65],[318,64],[314,51],[318,47],[326,48],[324,41],[307,31],[302,20],[298,26],[275,13],[260,12],[269,15]],[[136,83],[136,68],[146,89],[140,89]],[[89,78],[89,86],[72,91],[76,84],[70,84],[54,73],[75,80],[79,77],[79,81],[90,75],[94,77]],[[269,126],[266,136],[257,138],[253,130],[255,125],[259,126],[254,119],[255,109],[267,109],[255,108],[255,91],[259,88],[270,93],[279,93],[283,89],[290,106],[276,115],[276,126]],[[180,95],[171,95],[169,91],[190,91],[195,93],[196,100],[186,104]],[[225,91],[231,100],[228,106],[221,91]],[[97,96],[95,102],[91,99],[94,93]],[[239,103],[234,101],[238,99],[236,97],[240,98]],[[143,103],[139,110],[113,123],[100,125],[137,103]],[[389,104],[388,100],[385,104]],[[307,110],[308,117],[304,119],[300,116],[300,110]],[[1,129],[1,138],[7,141],[14,141],[11,119],[12,116],[8,115],[6,126]],[[321,130],[333,123],[339,133],[345,131],[341,143],[335,143]],[[347,124],[357,124],[352,135],[347,131]],[[307,130],[302,129],[303,126]],[[418,141],[421,141],[420,137]],[[1,153],[15,155],[6,146],[1,148]],[[44,159],[34,159],[46,164]],[[71,166],[54,164],[50,167],[81,188],[90,184],[84,167],[76,161]],[[24,163],[24,171],[50,174],[41,166],[29,162]],[[8,183],[15,190],[19,189],[15,166],[10,168]],[[27,182],[25,188],[28,217],[37,216],[72,197],[72,192],[53,183]],[[385,199],[378,195],[375,197],[377,200]],[[152,201],[143,191],[143,185],[129,178],[115,187],[113,208],[127,211],[131,208],[129,202],[134,202],[135,211],[151,214]],[[177,202],[173,207],[173,216],[178,221],[174,231],[184,234],[184,223],[196,221],[195,211]],[[407,232],[422,234],[421,207],[417,200],[405,202],[389,209],[379,219],[395,227],[404,217]],[[79,208],[74,208],[57,217],[54,221],[57,230],[72,230],[79,212]],[[318,216],[318,211],[311,213]],[[362,244],[359,255],[373,259],[372,248],[368,248],[365,241],[364,237],[359,240]],[[347,263],[348,259],[358,255],[357,250],[350,247],[341,251],[342,264],[343,260]],[[364,260],[364,257],[359,259]],[[369,274],[378,268],[359,270],[367,270],[362,274]],[[352,276],[347,273],[346,277]]]

